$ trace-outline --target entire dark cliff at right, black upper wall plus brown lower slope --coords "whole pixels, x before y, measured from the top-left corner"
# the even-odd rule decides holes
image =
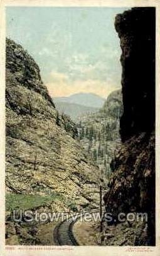
[[[155,245],[155,9],[118,14],[115,29],[122,48],[123,145],[104,201],[115,218],[120,212],[147,213],[147,226],[133,245]]]

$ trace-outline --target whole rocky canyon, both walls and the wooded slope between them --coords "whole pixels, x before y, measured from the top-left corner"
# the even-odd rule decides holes
[[[35,60],[6,39],[7,244],[40,244],[38,227],[11,220],[14,208],[99,208],[94,191],[103,184],[105,211],[117,222],[103,221],[99,245],[155,245],[155,9],[117,14],[115,29],[122,92],[78,125],[56,109]],[[120,212],[148,221],[120,223]]]

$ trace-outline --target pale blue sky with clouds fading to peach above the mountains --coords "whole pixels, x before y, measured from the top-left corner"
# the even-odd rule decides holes
[[[6,33],[40,66],[52,97],[77,92],[107,97],[120,88],[117,13],[129,8],[6,8]]]

